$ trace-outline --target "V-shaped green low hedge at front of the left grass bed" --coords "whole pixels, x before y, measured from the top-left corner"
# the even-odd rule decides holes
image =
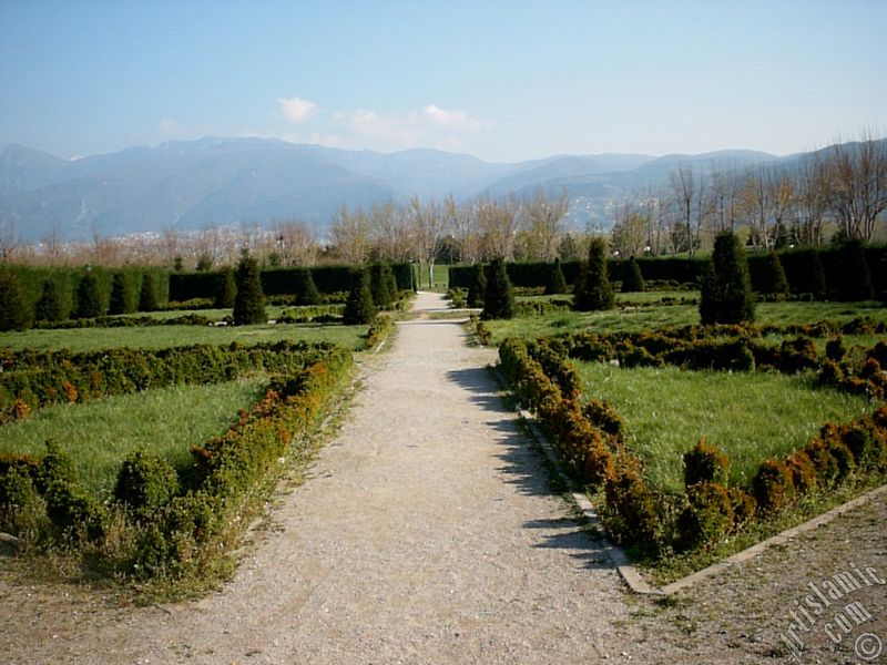
[[[350,375],[341,348],[304,354],[264,398],[221,437],[192,448],[194,472],[139,450],[122,463],[114,497],[78,483],[54,443],[35,460],[0,459],[0,530],[22,549],[73,548],[109,575],[202,579],[232,551],[278,478],[281,459],[303,454],[307,434]]]

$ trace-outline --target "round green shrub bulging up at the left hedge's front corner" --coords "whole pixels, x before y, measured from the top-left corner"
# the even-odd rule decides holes
[[[120,468],[114,499],[140,519],[166,505],[179,491],[179,478],[166,460],[143,449],[133,451]]]

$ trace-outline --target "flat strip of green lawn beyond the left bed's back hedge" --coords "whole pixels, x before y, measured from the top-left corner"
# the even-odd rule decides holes
[[[77,328],[0,332],[0,348],[70,349],[105,348],[163,349],[193,344],[224,345],[232,341],[258,344],[284,339],[333,341],[351,350],[364,348],[367,326],[264,324],[256,326],[147,326],[132,328]]]

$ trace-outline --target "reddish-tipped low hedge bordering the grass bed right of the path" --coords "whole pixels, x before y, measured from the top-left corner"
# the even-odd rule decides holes
[[[682,340],[646,336],[651,344],[636,348],[650,358],[656,358],[652,342],[660,360],[686,357]],[[785,460],[764,461],[747,488],[728,487],[726,456],[700,441],[684,456],[684,492],[665,493],[646,482],[640,459],[626,451],[625,426],[612,405],[591,400],[580,406],[579,380],[567,358],[577,348],[588,355],[594,345],[588,344],[588,338],[584,346],[571,346],[571,341],[575,340],[569,336],[532,342],[507,339],[499,347],[501,370],[518,399],[536,412],[573,478],[603,490],[603,522],[620,544],[652,555],[707,548],[741,531],[756,516],[773,515],[814,488],[828,490],[854,472],[887,472],[887,407],[881,407],[847,424],[824,426],[818,437]],[[692,344],[711,341],[716,340],[703,338]],[[724,344],[727,348],[736,342]],[[810,354],[806,340],[788,340],[769,351],[775,358],[772,367],[781,371],[815,367],[815,349]],[[832,355],[838,355],[834,345]],[[711,358],[706,352],[702,356]],[[598,350],[591,357],[608,359],[606,352]],[[865,381],[866,392],[883,400],[887,379],[880,370],[881,361],[887,366],[887,345],[883,342],[865,354],[863,369],[856,374],[853,368],[857,366],[846,357],[822,359],[819,372],[828,364],[843,362],[846,376]],[[855,390],[858,385],[852,381],[838,387]]]

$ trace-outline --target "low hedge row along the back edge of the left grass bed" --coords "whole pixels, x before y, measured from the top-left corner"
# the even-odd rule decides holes
[[[43,406],[83,402],[174,383],[217,383],[264,369],[292,371],[332,344],[278,341],[161,350],[0,351],[0,423]],[[26,415],[27,415],[26,412]]]

